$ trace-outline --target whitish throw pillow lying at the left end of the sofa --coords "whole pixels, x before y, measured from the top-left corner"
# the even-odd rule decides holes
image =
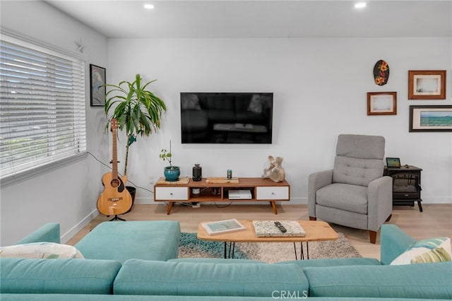
[[[83,255],[75,247],[68,244],[57,244],[54,242],[34,242],[31,244],[16,244],[8,247],[0,247],[0,257],[83,259]]]

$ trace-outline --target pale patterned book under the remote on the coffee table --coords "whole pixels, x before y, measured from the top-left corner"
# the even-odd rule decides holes
[[[297,220],[278,220],[286,232],[281,232],[275,225],[277,220],[253,220],[254,230],[257,237],[305,237],[306,232]]]

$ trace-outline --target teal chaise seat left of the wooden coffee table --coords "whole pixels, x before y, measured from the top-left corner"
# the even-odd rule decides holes
[[[181,228],[174,220],[100,223],[75,247],[85,259],[168,260],[177,258]]]

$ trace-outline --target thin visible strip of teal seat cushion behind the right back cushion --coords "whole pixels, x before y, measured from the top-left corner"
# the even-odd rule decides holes
[[[279,261],[275,264],[296,264],[300,268],[309,266],[380,266],[380,261],[374,258],[334,258]]]

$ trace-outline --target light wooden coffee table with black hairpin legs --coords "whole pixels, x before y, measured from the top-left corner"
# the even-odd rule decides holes
[[[211,221],[209,221],[211,222]],[[303,242],[306,242],[307,247],[307,259],[309,259],[309,245],[308,242],[319,242],[324,240],[337,240],[339,235],[333,228],[331,228],[328,223],[321,220],[298,220],[299,225],[302,226],[304,232],[306,232],[305,237],[257,237],[254,231],[254,225],[252,220],[239,220],[246,230],[240,230],[235,232],[227,232],[218,235],[208,235],[206,229],[203,228],[201,222],[198,225],[198,239],[199,240],[210,240],[214,242],[225,242],[225,258],[234,257],[234,245],[235,242],[293,242],[295,249],[295,259],[297,259],[297,249],[295,243],[299,242],[301,246],[300,259],[304,259],[303,253]],[[227,252],[227,243],[230,244],[229,252]],[[232,247],[231,247],[232,244]],[[232,257],[230,256],[232,252]]]

